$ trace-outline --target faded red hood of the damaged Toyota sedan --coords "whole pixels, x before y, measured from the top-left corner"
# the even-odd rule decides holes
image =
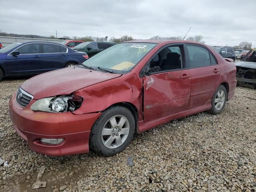
[[[40,74],[25,81],[21,88],[34,96],[34,99],[71,94],[84,87],[117,78],[122,74],[112,74],[68,67]]]

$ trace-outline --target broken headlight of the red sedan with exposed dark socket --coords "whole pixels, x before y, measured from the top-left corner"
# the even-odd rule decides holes
[[[62,95],[37,100],[30,106],[30,109],[33,111],[61,113],[78,109],[82,102],[83,98],[80,96]]]

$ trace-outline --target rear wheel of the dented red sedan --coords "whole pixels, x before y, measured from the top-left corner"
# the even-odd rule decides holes
[[[224,97],[222,96],[222,94]],[[223,85],[218,86],[212,96],[212,109],[210,110],[211,114],[217,115],[223,111],[226,104],[227,95],[228,94],[226,88]],[[217,102],[217,100],[219,100],[219,102]]]

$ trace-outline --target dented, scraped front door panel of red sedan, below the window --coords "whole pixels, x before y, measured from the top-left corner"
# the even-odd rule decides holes
[[[188,110],[190,70],[144,76],[144,122]]]

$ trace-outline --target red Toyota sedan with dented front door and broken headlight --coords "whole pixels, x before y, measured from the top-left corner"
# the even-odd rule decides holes
[[[176,118],[220,114],[234,96],[236,66],[199,42],[116,44],[75,67],[24,82],[9,101],[16,132],[50,156],[112,156]]]

